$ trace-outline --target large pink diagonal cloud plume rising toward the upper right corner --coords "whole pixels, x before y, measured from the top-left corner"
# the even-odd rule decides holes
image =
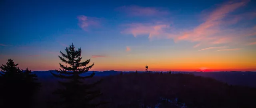
[[[223,28],[223,25],[234,24],[238,22],[239,18],[230,18],[228,20],[229,22],[226,21],[225,18],[230,12],[244,6],[246,3],[247,1],[222,4],[219,8],[209,14],[205,22],[194,28],[192,31],[185,31],[181,36],[176,38],[176,41],[207,41],[212,44],[229,42],[231,40],[229,37],[223,37],[223,35],[228,36],[225,33],[229,29]],[[232,20],[232,22],[230,22],[230,20]]]

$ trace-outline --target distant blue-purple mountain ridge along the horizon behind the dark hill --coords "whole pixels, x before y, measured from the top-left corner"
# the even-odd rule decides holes
[[[58,79],[52,76],[50,73],[56,72],[55,70],[48,70],[48,71],[33,71],[32,73],[35,73],[38,76],[39,80],[54,80]],[[85,74],[81,74],[82,76],[88,76],[93,71],[88,71]],[[115,71],[115,70],[106,70],[106,71],[95,71],[95,76],[110,76],[110,75],[118,75],[122,72],[123,74],[129,74],[134,73],[132,71],[126,72],[126,71]],[[142,73],[144,71],[138,71],[138,73]],[[151,73],[157,73],[157,72],[151,72]],[[159,73],[159,72],[158,72]],[[167,71],[163,73],[168,73]],[[180,73],[180,72],[173,72],[172,73]],[[194,74],[195,76],[203,76],[203,77],[211,77],[216,80],[220,80],[222,82],[227,82],[228,84],[232,85],[242,85],[242,86],[251,86],[256,87],[256,72],[181,72],[186,74]]]

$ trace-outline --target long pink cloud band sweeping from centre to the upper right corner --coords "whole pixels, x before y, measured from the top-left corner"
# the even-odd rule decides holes
[[[222,4],[219,8],[212,11],[206,20],[196,26],[193,30],[179,30],[173,32],[170,28],[169,22],[164,23],[132,23],[127,24],[128,28],[122,31],[122,33],[132,34],[134,37],[138,35],[149,35],[149,39],[154,37],[157,38],[173,38],[175,42],[180,40],[187,40],[190,42],[200,42],[201,44],[224,44],[238,40],[237,37],[248,34],[252,30],[244,30],[239,36],[237,34],[232,34],[230,28],[223,28],[223,25],[236,24],[241,16],[236,15],[235,17],[228,17],[231,19],[226,19],[226,16],[233,12],[237,8],[240,8],[247,4],[248,1],[242,2],[228,2]],[[154,13],[154,12],[152,12]],[[246,16],[255,16],[255,13],[246,14]],[[243,33],[243,34],[242,34]],[[250,34],[253,35],[253,34]]]

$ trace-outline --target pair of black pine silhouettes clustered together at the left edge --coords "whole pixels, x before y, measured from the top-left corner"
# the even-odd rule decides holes
[[[32,74],[28,68],[23,72],[12,59],[8,59],[6,65],[2,64],[0,68],[0,108],[31,108],[33,96],[40,88],[36,74]]]

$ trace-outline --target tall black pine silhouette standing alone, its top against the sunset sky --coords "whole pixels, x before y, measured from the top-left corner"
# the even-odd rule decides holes
[[[90,76],[80,76],[80,74],[88,72],[88,70],[94,66],[94,63],[87,66],[90,59],[81,62],[81,48],[76,50],[73,44],[66,47],[65,50],[67,54],[60,51],[60,54],[63,57],[59,56],[59,58],[62,62],[69,64],[70,66],[64,66],[60,63],[62,69],[56,70],[58,74],[51,72],[52,75],[57,78],[68,80],[68,82],[59,81],[64,89],[57,89],[54,92],[54,94],[59,94],[62,98],[56,104],[61,105],[61,108],[94,108],[98,106],[101,103],[93,104],[91,101],[101,95],[100,90],[93,89],[101,80],[93,84],[84,84],[81,80],[92,78],[95,75],[95,72]]]

